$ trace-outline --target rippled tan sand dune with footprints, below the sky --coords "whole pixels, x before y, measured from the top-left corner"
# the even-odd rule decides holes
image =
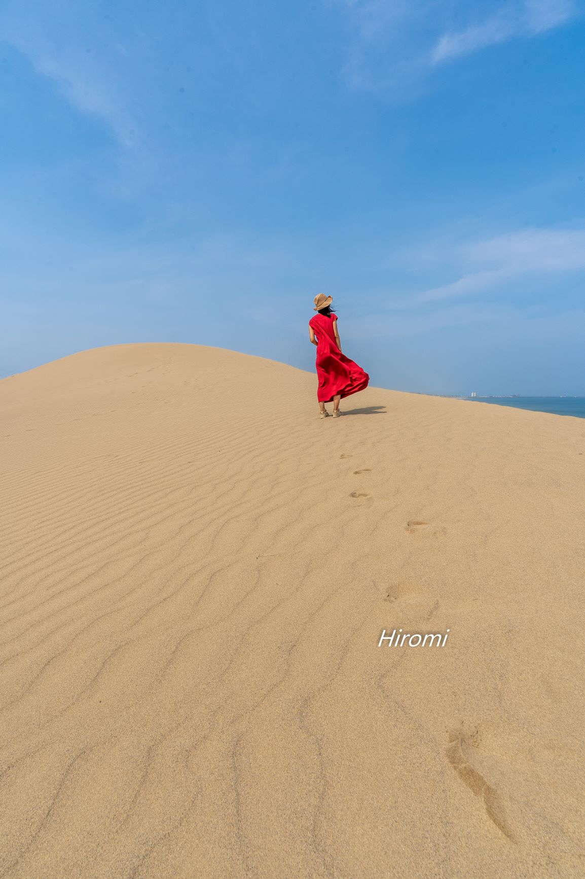
[[[315,386],[0,382],[0,875],[585,875],[585,421]]]

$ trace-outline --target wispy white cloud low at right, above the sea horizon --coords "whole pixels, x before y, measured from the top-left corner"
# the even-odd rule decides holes
[[[525,229],[466,243],[452,258],[464,268],[459,278],[425,290],[415,301],[477,295],[522,276],[581,272],[585,270],[585,229]]]

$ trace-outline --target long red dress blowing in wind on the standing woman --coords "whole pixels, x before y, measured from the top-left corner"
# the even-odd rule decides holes
[[[330,403],[337,394],[350,396],[367,388],[370,376],[337,347],[333,322],[337,316],[315,315],[309,321],[317,338],[317,400]]]

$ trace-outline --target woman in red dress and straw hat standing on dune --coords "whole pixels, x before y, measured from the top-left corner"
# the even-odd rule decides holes
[[[321,408],[321,418],[327,418],[329,412],[325,403],[333,401],[333,415],[338,418],[339,401],[343,396],[357,394],[358,390],[367,388],[370,376],[362,367],[346,357],[341,350],[339,333],[337,332],[337,316],[331,311],[332,296],[320,293],[314,297],[314,311],[317,314],[309,321],[309,338],[317,346],[317,400]]]

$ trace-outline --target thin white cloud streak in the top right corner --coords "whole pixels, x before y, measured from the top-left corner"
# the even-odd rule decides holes
[[[497,43],[543,33],[563,25],[574,12],[571,0],[524,0],[502,7],[480,24],[444,33],[433,49],[432,61],[451,61]]]

